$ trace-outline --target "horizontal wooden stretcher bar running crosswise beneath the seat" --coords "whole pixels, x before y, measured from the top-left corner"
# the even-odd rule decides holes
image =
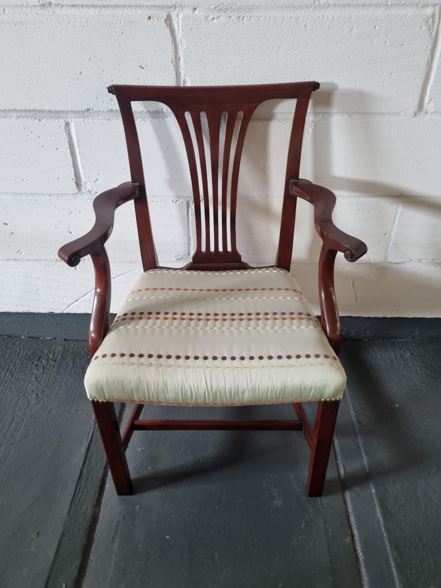
[[[135,420],[135,431],[301,431],[301,420]]]

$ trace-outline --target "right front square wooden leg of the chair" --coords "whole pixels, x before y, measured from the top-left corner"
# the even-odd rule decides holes
[[[308,496],[322,496],[323,494],[339,405],[338,400],[319,402],[309,460]]]

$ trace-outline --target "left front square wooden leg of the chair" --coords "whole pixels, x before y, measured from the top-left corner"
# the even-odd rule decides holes
[[[101,435],[116,494],[131,494],[132,480],[113,402],[92,402],[92,408],[95,413],[96,423],[99,434]]]

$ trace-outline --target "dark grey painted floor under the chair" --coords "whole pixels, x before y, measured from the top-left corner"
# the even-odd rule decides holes
[[[302,434],[275,432],[135,433],[136,493],[118,497],[82,386],[86,343],[0,341],[2,586],[441,586],[440,339],[345,343],[322,499],[305,495]],[[145,414],[239,410],[293,416]]]

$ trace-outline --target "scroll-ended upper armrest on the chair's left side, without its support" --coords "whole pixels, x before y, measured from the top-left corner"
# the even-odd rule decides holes
[[[138,196],[138,186],[137,183],[125,182],[96,196],[93,201],[95,224],[86,235],[63,245],[58,251],[59,258],[74,268],[81,258],[102,251],[112,233],[115,210]]]

